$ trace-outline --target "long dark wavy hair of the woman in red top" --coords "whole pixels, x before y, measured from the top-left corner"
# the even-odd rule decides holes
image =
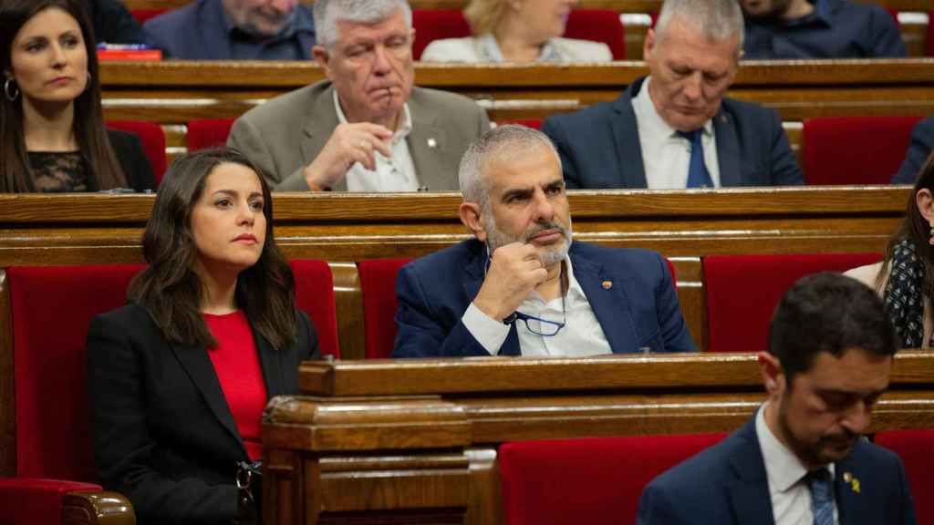
[[[169,341],[214,348],[217,342],[201,315],[205,289],[193,267],[198,248],[191,234],[191,210],[205,191],[205,180],[222,163],[259,170],[235,149],[202,149],[181,156],[168,169],[156,194],[143,234],[149,266],[130,282],[127,299],[142,305]],[[266,242],[260,259],[237,278],[234,300],[254,329],[275,348],[295,341],[295,280],[276,248],[273,199],[265,179],[262,214]]]

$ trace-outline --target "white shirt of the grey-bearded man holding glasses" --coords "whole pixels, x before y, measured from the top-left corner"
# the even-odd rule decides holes
[[[519,348],[524,356],[591,356],[613,353],[606,335],[600,326],[600,321],[594,315],[584,289],[574,278],[571,258],[564,258],[568,272],[568,292],[564,297],[563,308],[565,315],[561,315],[562,301],[556,297],[545,302],[538,292],[522,302],[518,311],[523,314],[540,319],[561,322],[565,319],[564,328],[550,337],[531,332],[526,323],[515,321],[519,337]],[[509,325],[503,324],[501,319],[491,319],[487,314],[477,308],[474,303],[467,306],[463,317],[464,326],[474,338],[485,348],[490,355],[499,355],[502,343],[509,335]],[[529,320],[532,328],[538,328],[538,322]]]

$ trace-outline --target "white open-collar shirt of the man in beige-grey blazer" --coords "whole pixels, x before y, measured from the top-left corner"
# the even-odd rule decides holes
[[[337,91],[334,90],[334,109],[337,111],[337,121],[347,123],[344,110],[337,100]],[[412,133],[412,115],[409,114],[408,103],[403,106],[403,119],[399,127],[389,139],[389,149],[392,156],[387,159],[382,153],[373,150],[376,169],[371,171],[361,163],[354,163],[347,170],[347,192],[416,192],[418,190],[418,177],[415,173],[415,163],[405,140]]]

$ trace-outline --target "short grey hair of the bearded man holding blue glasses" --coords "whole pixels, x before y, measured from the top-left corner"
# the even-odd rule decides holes
[[[524,152],[545,149],[561,159],[555,145],[544,133],[517,124],[497,126],[479,140],[470,145],[460,159],[458,181],[460,194],[466,203],[476,203],[487,212],[489,210],[489,187],[483,170],[490,164]]]

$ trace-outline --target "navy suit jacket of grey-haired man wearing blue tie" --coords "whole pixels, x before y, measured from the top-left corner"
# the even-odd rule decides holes
[[[633,82],[613,102],[545,120],[542,131],[558,148],[569,189],[647,187],[631,103],[643,80]],[[714,117],[714,134],[721,186],[804,182],[775,110],[725,97]]]

